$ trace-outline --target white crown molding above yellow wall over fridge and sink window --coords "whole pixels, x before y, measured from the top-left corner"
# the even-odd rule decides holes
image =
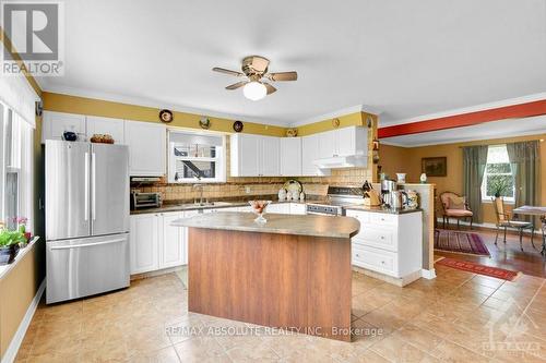
[[[150,99],[150,98],[115,95],[115,94],[109,94],[109,93],[104,93],[104,92],[94,92],[94,90],[73,88],[73,87],[67,87],[67,86],[47,87],[46,89],[44,89],[44,92],[52,93],[52,94],[61,94],[61,95],[67,95],[67,96],[74,96],[74,97],[92,98],[92,99],[103,100],[103,101],[141,106],[141,107],[169,109],[169,110],[177,111],[177,112],[201,114],[201,116],[219,118],[219,119],[228,119],[228,120],[234,120],[234,121],[239,120],[239,121],[245,121],[245,122],[260,123],[260,124],[270,125],[270,126],[280,126],[280,128],[287,128],[288,126],[287,122],[282,122],[278,120],[271,120],[271,119],[264,119],[264,118],[252,118],[252,117],[246,117],[246,116],[240,116],[240,114],[193,108],[193,107],[178,105],[178,104],[169,104],[169,102],[164,102],[161,100],[154,100],[154,99]]]

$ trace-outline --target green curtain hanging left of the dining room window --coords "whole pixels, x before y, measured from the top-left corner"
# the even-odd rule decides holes
[[[480,223],[482,216],[482,182],[487,166],[487,145],[463,147],[463,187],[464,195],[473,211],[472,219]]]

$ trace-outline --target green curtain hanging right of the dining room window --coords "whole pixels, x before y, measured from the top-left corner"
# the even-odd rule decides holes
[[[541,190],[541,153],[538,141],[507,144],[515,184],[515,206],[538,205]],[[531,220],[530,216],[521,216]]]

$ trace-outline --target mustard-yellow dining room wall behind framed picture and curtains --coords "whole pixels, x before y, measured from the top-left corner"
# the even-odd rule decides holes
[[[476,142],[431,145],[422,147],[396,147],[390,145],[381,145],[379,165],[383,166],[382,171],[391,178],[396,178],[396,172],[405,172],[407,182],[419,182],[420,176],[420,159],[424,157],[440,157],[448,158],[448,176],[447,177],[429,177],[428,182],[436,184],[437,195],[444,191],[463,193],[463,146],[470,145],[495,145],[514,143],[530,140],[546,140],[545,134],[484,140]],[[546,205],[546,142],[539,144],[541,149],[541,204]],[[507,206],[508,210],[512,206]],[[495,223],[495,210],[490,203],[483,203],[484,222]]]

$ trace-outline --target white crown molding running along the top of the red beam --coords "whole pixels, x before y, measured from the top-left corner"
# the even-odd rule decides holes
[[[476,112],[476,111],[485,111],[485,110],[489,110],[489,109],[494,109],[494,108],[514,106],[514,105],[526,104],[526,102],[532,102],[532,101],[537,101],[537,100],[543,100],[543,99],[546,99],[546,92],[526,95],[526,96],[522,96],[522,97],[508,98],[508,99],[503,99],[503,100],[495,101],[495,102],[480,104],[480,105],[463,107],[463,108],[455,108],[455,109],[451,109],[448,111],[428,113],[428,114],[417,116],[417,117],[408,118],[408,119],[401,119],[401,120],[392,121],[392,122],[389,122],[385,124],[381,124],[380,126],[387,128],[387,126],[394,126],[397,124],[420,122],[420,121],[427,121],[427,120],[432,120],[432,119],[441,119],[441,118],[451,117],[451,116],[458,116],[458,114]]]

